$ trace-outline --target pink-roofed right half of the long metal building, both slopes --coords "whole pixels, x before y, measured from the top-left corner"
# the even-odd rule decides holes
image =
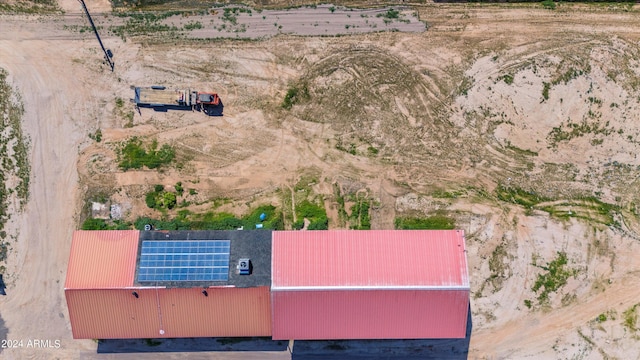
[[[462,231],[273,232],[275,340],[464,338]]]

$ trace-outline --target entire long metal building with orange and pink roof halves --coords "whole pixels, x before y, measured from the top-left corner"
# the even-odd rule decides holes
[[[76,339],[464,338],[464,233],[76,231]]]

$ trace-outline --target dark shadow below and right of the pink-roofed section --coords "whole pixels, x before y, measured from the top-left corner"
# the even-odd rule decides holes
[[[462,339],[296,340],[292,360],[466,360],[473,329],[471,307]]]

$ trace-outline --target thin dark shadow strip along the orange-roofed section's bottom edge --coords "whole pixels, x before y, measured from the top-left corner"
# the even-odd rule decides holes
[[[98,341],[98,353],[285,351],[288,345],[270,337],[109,339]]]

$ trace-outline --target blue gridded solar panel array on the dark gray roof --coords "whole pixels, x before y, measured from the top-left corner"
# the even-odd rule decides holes
[[[138,282],[227,281],[229,240],[143,241]]]

